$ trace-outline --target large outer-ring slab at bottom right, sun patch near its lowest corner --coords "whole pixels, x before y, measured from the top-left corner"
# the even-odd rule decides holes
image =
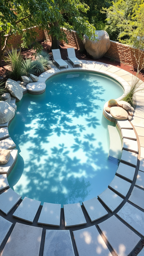
[[[141,240],[114,215],[98,226],[118,256],[128,256]]]

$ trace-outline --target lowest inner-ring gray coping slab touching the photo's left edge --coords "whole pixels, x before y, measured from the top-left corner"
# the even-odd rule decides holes
[[[7,215],[21,198],[12,188],[7,189],[0,195],[0,210]]]

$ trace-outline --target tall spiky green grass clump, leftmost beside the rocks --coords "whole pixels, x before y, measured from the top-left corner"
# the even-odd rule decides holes
[[[10,78],[18,80],[22,76],[22,59],[21,50],[17,52],[17,49],[12,48],[12,52],[7,53],[5,61],[11,69],[8,74]]]

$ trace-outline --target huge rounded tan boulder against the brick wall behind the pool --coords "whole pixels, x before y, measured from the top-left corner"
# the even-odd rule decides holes
[[[98,36],[98,40],[89,39],[87,35],[84,35],[83,43],[87,53],[93,59],[99,59],[108,51],[110,39],[105,30],[96,30],[95,34]]]

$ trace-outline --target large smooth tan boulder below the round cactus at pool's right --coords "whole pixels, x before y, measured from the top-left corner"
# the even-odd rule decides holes
[[[110,114],[115,118],[119,120],[125,120],[128,119],[128,112],[121,108],[121,107],[111,107],[110,108]]]

